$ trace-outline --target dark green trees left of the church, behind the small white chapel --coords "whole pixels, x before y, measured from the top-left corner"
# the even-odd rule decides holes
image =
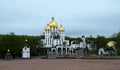
[[[28,44],[31,48],[31,55],[37,54],[36,45],[40,41],[39,36],[27,36],[27,35],[0,35],[0,58],[4,58],[7,50],[10,50],[13,58],[21,57],[22,48],[24,47],[25,40],[28,40]]]

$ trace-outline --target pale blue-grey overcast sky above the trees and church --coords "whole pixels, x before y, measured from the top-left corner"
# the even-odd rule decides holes
[[[120,31],[120,0],[0,0],[0,34],[42,34],[51,17],[67,36],[111,36]]]

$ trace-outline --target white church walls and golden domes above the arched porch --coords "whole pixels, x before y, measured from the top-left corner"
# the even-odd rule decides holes
[[[57,22],[54,21],[54,17],[52,17],[52,21],[47,24],[43,33],[44,38],[42,38],[42,42],[44,47],[51,48],[57,45],[69,45],[69,40],[65,40],[65,30],[61,25],[58,27]]]

